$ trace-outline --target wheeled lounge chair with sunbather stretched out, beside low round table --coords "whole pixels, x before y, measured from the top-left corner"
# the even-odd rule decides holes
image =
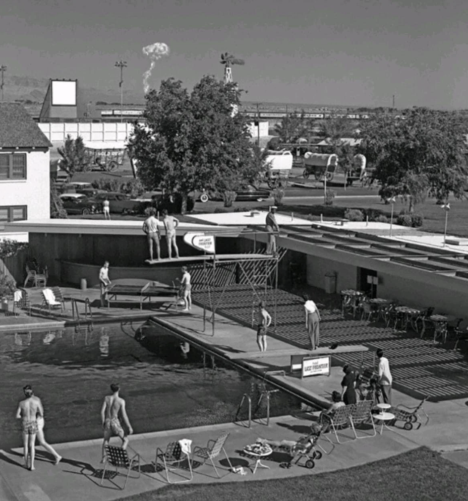
[[[292,464],[314,468],[315,461],[322,457],[321,451],[316,448],[317,441],[322,431],[313,432],[307,436],[302,436],[297,442],[282,440],[281,442],[267,439],[257,439],[261,444],[268,444],[273,452],[280,452],[290,456],[289,461],[283,461],[279,464],[281,468],[290,468]],[[303,462],[303,464],[301,464]]]

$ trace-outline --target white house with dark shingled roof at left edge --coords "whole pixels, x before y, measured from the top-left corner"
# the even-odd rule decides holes
[[[50,217],[52,145],[18,103],[0,103],[0,225]]]

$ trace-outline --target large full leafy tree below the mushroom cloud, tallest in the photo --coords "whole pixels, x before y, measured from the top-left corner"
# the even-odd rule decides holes
[[[257,175],[247,120],[235,84],[205,76],[191,94],[181,81],[161,82],[146,95],[145,126],[136,124],[129,150],[146,189],[180,194],[185,212],[194,190],[235,191]]]

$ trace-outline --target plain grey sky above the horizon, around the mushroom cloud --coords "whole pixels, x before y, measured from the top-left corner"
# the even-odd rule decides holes
[[[249,101],[468,108],[467,23],[464,0],[2,0],[0,64],[107,90],[123,59],[143,95],[142,48],[164,42],[152,88],[222,78],[228,51]]]

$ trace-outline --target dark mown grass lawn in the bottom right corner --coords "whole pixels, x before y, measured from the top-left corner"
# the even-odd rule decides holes
[[[420,448],[355,468],[278,480],[168,486],[125,501],[465,501],[466,470]]]

